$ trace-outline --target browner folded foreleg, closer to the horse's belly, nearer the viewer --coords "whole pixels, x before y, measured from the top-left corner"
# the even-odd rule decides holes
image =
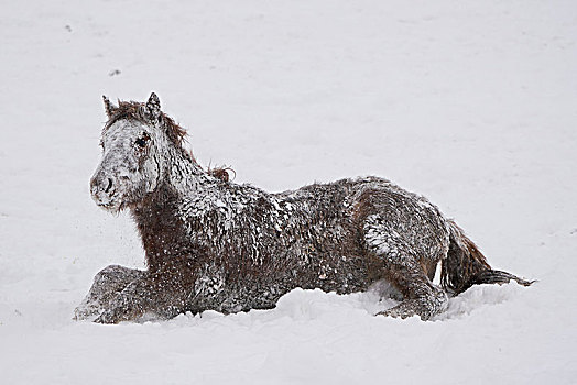
[[[148,315],[168,319],[185,310],[186,295],[185,285],[174,276],[145,273],[119,293],[95,322],[135,321]]]

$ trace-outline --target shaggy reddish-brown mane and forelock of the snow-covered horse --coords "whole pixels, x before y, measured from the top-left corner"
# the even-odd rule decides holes
[[[118,101],[118,107],[110,110],[110,114],[108,118],[108,122],[106,123],[102,134],[106,133],[106,131],[117,121],[120,119],[135,119],[142,123],[150,123],[150,118],[146,116],[145,109],[143,108],[145,103],[138,102],[138,101]],[[161,123],[165,128],[165,132],[168,135],[168,139],[171,142],[173,142],[174,145],[183,148],[183,142],[186,139],[187,132],[185,129],[183,129],[181,125],[176,124],[176,122],[161,111]],[[184,148],[183,148],[184,150]],[[184,151],[185,154],[187,154],[192,162],[197,164],[199,167],[200,164],[196,161],[195,156],[192,152]],[[237,173],[228,166],[220,166],[220,167],[208,167],[207,173],[211,176],[214,176],[217,179],[220,179],[222,182],[229,182],[230,180],[230,174],[229,172],[232,172],[236,176]]]

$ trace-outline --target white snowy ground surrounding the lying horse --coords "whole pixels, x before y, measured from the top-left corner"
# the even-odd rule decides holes
[[[575,383],[576,42],[574,1],[3,1],[0,383]],[[100,96],[151,90],[237,182],[385,176],[540,282],[475,287],[433,322],[303,290],[270,311],[74,322],[100,268],[143,267],[88,179]]]

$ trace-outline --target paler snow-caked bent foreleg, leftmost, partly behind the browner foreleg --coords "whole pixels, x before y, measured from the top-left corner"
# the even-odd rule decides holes
[[[74,319],[84,320],[97,316],[108,308],[108,304],[131,282],[143,276],[145,272],[119,265],[102,268],[94,279],[92,287],[80,305],[74,310]]]

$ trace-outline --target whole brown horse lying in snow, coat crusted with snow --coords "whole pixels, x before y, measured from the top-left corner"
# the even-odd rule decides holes
[[[297,287],[350,294],[382,280],[400,302],[378,315],[429,320],[472,285],[532,283],[491,268],[455,221],[388,179],[270,194],[229,180],[227,169],[205,170],[154,92],[118,106],[102,98],[108,121],[91,197],[109,212],[130,211],[148,268],[100,271],[77,320],[271,309]]]

